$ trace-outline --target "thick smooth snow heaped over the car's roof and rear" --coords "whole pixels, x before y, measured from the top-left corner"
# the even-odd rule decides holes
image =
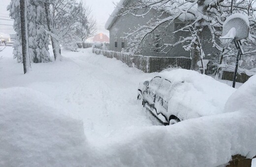
[[[177,69],[158,76],[172,83],[170,97],[166,98],[168,113],[181,120],[222,113],[228,97],[236,90],[192,70]]]

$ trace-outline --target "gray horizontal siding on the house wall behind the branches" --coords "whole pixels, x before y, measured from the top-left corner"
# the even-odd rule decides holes
[[[132,15],[119,16],[115,20],[112,27],[109,28],[110,50],[115,52],[121,52],[122,42],[125,43],[125,49],[128,48],[127,40],[122,38],[126,35],[125,33],[131,32],[131,30],[138,25],[145,25],[150,19],[154,19],[154,17],[157,15],[159,15],[158,11],[152,10],[144,17],[135,17]],[[163,28],[165,28],[165,25],[160,26],[157,30],[147,36],[146,41],[143,43],[143,46],[141,46],[141,51],[138,54],[143,56],[190,57],[190,51],[185,51],[183,49],[183,46],[188,45],[189,43],[177,45],[169,50],[168,53],[155,52],[156,50],[154,51],[152,45],[153,38],[155,38],[157,35],[159,35],[161,38],[159,43],[160,45],[161,41],[164,41],[164,43],[175,43],[181,40],[181,36],[186,37],[190,35],[190,32],[184,31],[179,31],[175,34],[173,33],[173,31],[184,27],[185,24],[185,22],[177,19],[167,29],[164,30],[165,32],[161,31]],[[211,43],[211,32],[208,28],[203,28],[202,32],[200,33],[200,37],[203,40],[202,48],[204,50],[205,58],[210,58],[210,56],[207,56],[208,54],[215,55],[219,53]],[[117,47],[115,47],[115,42],[117,42]],[[165,50],[164,52],[167,52],[167,50]]]

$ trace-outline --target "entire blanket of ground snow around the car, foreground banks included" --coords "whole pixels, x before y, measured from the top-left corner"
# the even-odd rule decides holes
[[[0,166],[216,167],[256,155],[256,76],[226,113],[157,126],[136,105],[138,83],[157,73],[90,48],[62,53],[24,75],[10,47],[0,52]]]

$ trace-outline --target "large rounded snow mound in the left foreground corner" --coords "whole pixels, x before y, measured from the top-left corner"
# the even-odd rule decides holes
[[[29,88],[0,89],[1,167],[84,166],[83,124],[54,106]]]

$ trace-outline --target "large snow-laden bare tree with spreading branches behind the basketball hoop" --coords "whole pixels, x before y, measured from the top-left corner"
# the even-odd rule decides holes
[[[233,13],[243,13],[249,17],[253,29],[256,23],[253,3],[254,0],[128,0],[124,5],[117,4],[117,7],[121,8],[117,16],[131,14],[135,17],[145,17],[152,10],[158,12],[146,25],[138,25],[124,36],[128,40],[128,50],[133,53],[139,51],[149,36],[155,32],[160,34],[157,40],[162,41],[156,48],[159,52],[168,53],[173,47],[184,44],[183,48],[191,52],[191,69],[196,70],[198,69],[196,62],[200,59],[204,67],[202,61],[205,56],[204,43],[201,33],[205,29],[210,31],[212,36],[210,42],[219,53],[225,56],[236,53],[232,46],[223,50],[218,40],[222,34],[224,20]],[[189,32],[189,35],[182,36],[181,40],[176,42],[168,43],[162,40],[162,37],[168,35],[168,28],[176,19],[184,20],[185,26],[173,33],[182,31],[186,34]],[[254,31],[251,31],[250,37],[249,40],[255,40]],[[152,44],[156,47],[154,41]],[[246,46],[247,43],[244,42],[244,45]]]

